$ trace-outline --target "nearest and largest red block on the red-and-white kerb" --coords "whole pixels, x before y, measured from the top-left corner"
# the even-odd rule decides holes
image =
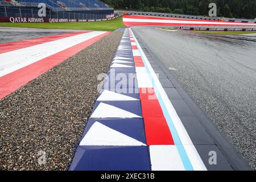
[[[143,118],[147,145],[174,144],[165,118]]]

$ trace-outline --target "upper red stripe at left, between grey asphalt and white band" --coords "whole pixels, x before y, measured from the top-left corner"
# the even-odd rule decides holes
[[[88,32],[92,32],[92,31],[68,32],[68,33],[64,33],[64,34],[43,36],[41,38],[19,40],[16,42],[3,43],[3,44],[0,44],[0,53],[6,53],[6,52],[10,52],[10,51],[15,51],[17,49],[36,46],[38,44],[43,44],[43,43],[51,42],[54,40],[68,38],[69,36],[85,34]]]

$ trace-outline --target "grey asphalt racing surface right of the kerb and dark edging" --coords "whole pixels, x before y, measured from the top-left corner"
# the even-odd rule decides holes
[[[256,39],[155,27],[132,30],[256,169]]]

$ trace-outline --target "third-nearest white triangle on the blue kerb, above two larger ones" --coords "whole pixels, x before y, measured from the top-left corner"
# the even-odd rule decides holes
[[[97,101],[137,101],[138,99],[115,93],[109,90],[104,90]]]

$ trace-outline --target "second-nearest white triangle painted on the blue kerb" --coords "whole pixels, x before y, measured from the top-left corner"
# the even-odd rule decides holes
[[[118,107],[100,103],[91,115],[91,118],[141,118],[137,114],[120,109]]]

